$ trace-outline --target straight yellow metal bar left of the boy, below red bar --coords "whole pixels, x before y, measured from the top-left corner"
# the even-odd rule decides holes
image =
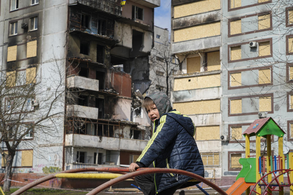
[[[115,179],[122,176],[116,173],[58,173],[55,175],[58,178],[68,179]]]

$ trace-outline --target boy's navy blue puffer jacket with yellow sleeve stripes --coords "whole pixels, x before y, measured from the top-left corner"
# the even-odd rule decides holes
[[[176,110],[160,113],[160,119],[154,122],[152,138],[137,162],[145,167],[153,163],[158,168],[181,169],[204,177],[203,161],[193,137],[195,130],[192,120]],[[188,182],[191,179],[184,175],[156,173],[156,191],[159,193],[178,184],[183,184],[181,188],[193,186],[196,183]]]

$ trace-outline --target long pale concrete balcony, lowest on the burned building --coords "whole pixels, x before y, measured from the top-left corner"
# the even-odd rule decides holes
[[[89,141],[91,140],[91,141]],[[66,134],[65,146],[107,148],[113,150],[142,151],[148,141],[102,137],[84,134]]]

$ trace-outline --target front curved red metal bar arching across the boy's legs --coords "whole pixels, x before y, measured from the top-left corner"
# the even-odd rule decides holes
[[[223,191],[221,188],[216,186],[214,183],[208,181],[207,179],[204,179],[203,177],[201,177],[199,175],[196,175],[196,174],[188,172],[188,171],[183,171],[183,170],[173,169],[173,168],[138,168],[137,171],[135,171],[135,172],[131,172],[126,175],[117,177],[115,179],[112,179],[112,180],[96,187],[95,189],[93,189],[92,191],[87,193],[86,195],[97,194],[97,193],[101,192],[102,190],[108,188],[109,186],[112,186],[116,183],[122,182],[126,179],[140,176],[140,175],[146,175],[146,174],[150,174],[150,173],[177,173],[180,175],[189,176],[189,177],[192,177],[194,179],[197,179],[198,181],[201,181],[201,182],[207,184],[208,186],[212,187],[214,190],[216,190],[221,195],[228,195],[225,191]]]

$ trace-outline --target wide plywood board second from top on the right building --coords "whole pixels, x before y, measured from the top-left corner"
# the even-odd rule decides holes
[[[221,23],[213,22],[174,30],[174,42],[212,37],[221,34]]]

